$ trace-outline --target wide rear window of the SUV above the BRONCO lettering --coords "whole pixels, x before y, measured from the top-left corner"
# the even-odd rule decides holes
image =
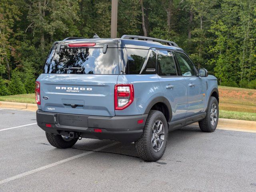
[[[68,68],[82,68],[81,72]],[[52,49],[44,65],[43,73],[56,74],[118,74],[118,49],[108,48],[67,48],[60,54]]]

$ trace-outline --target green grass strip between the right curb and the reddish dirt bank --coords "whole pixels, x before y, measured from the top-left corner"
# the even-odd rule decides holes
[[[256,113],[220,110],[220,118],[256,121]]]

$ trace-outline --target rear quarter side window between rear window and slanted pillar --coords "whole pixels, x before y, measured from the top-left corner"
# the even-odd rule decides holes
[[[127,48],[129,74],[140,74],[148,50]]]

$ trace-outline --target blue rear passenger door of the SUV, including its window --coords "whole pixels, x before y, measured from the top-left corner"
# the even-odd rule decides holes
[[[174,56],[170,50],[157,50],[157,74],[164,97],[172,106],[172,121],[184,118],[188,101],[186,80],[178,76]]]

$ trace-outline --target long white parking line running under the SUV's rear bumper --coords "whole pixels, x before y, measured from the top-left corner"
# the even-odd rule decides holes
[[[86,156],[86,155],[92,154],[92,153],[97,152],[97,151],[100,151],[100,150],[102,150],[102,149],[105,149],[105,148],[114,146],[114,145],[116,145],[116,144],[118,144],[118,143],[119,143],[119,142],[114,142],[114,143],[112,143],[112,144],[109,144],[109,145],[106,145],[106,146],[97,148],[97,149],[95,149],[94,151],[84,152],[84,153],[82,153],[82,154],[79,154],[79,155],[76,155],[76,156],[72,156],[72,157],[70,157],[70,158],[66,158],[66,159],[57,161],[57,162],[55,162],[55,163],[52,163],[52,164],[49,164],[49,165],[46,165],[46,166],[43,166],[43,167],[40,167],[40,168],[31,170],[31,171],[28,171],[28,172],[24,172],[24,173],[22,173],[22,174],[18,174],[18,175],[16,175],[16,176],[13,176],[13,177],[10,177],[10,178],[1,180],[1,181],[0,181],[0,185],[1,185],[1,184],[4,184],[4,183],[6,183],[6,182],[9,182],[9,181],[12,181],[12,180],[15,180],[15,179],[18,179],[18,178],[21,178],[21,177],[30,175],[30,174],[32,174],[32,173],[35,173],[35,172],[38,172],[38,171],[42,171],[42,170],[44,170],[44,169],[53,167],[53,166],[55,166],[55,165],[59,165],[59,164],[65,163],[65,162],[67,162],[67,161],[70,161],[70,160],[73,160],[73,159],[76,159],[76,158],[79,158],[79,157],[82,157],[82,156]]]

